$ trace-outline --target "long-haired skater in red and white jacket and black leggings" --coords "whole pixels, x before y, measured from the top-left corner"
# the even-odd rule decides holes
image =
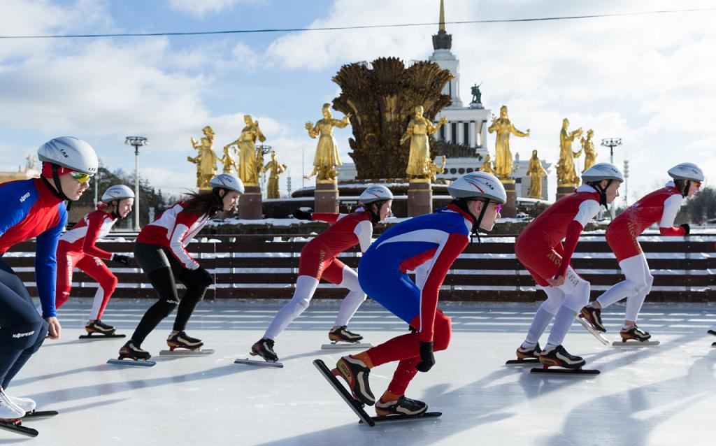
[[[179,306],[167,344],[195,350],[203,346],[200,339],[188,336],[184,330],[196,305],[213,283],[211,274],[202,268],[186,251],[186,246],[201,228],[221,210],[236,208],[243,193],[243,183],[233,175],[223,173],[212,178],[212,190],[190,194],[185,201],[175,203],[152,223],[142,228],[135,244],[135,260],[157,291],[159,301],[147,310],[132,339],[120,349],[120,359],[149,359],[150,353],[141,348],[150,332]],[[181,299],[176,280],[186,287]]]

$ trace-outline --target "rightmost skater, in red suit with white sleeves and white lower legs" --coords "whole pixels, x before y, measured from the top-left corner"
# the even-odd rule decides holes
[[[596,301],[581,309],[580,317],[593,329],[604,332],[606,327],[601,322],[601,310],[627,298],[624,325],[619,332],[624,342],[632,339],[644,342],[652,337],[637,326],[637,316],[654,281],[637,236],[654,223],[659,223],[659,233],[662,236],[687,236],[689,225],[684,223],[674,228],[674,218],[684,198],[694,195],[704,180],[702,170],[692,163],[675,165],[667,173],[673,181],[629,206],[606,228],[606,243],[614,252],[626,280],[616,283]]]

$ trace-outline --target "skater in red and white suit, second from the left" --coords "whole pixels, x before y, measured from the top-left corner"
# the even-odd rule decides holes
[[[62,234],[57,245],[57,297],[55,303],[59,309],[69,299],[72,291],[72,270],[77,267],[89,277],[94,278],[100,286],[97,287],[95,299],[92,301],[92,312],[84,325],[88,334],[98,333],[111,335],[115,327],[102,322],[107,302],[117,286],[117,276],[112,274],[110,268],[101,260],[112,260],[132,266],[130,256],[110,253],[97,248],[97,239],[110,233],[117,220],[129,215],[134,205],[135,194],[125,185],[113,185],[102,194],[102,203],[97,210],[84,215],[72,229]]]

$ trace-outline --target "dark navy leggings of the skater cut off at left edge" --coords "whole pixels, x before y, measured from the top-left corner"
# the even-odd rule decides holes
[[[0,384],[5,389],[47,336],[20,278],[0,258]]]

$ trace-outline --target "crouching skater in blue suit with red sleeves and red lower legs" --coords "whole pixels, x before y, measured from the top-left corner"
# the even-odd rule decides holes
[[[355,399],[375,404],[379,417],[421,415],[427,410],[425,402],[405,397],[405,390],[418,371],[427,372],[435,364],[433,352],[447,349],[450,343],[450,318],[437,309],[440,285],[468,246],[470,234],[476,234],[478,228],[492,231],[507,198],[502,183],[483,172],[463,175],[448,186],[448,191],[453,197],[448,208],[392,226],[374,241],[359,263],[363,290],[410,324],[412,331],[360,354],[342,357],[337,363],[334,374],[348,382]],[[416,270],[415,282],[407,275],[408,270]],[[395,361],[393,379],[376,402],[369,387],[369,372]]]

